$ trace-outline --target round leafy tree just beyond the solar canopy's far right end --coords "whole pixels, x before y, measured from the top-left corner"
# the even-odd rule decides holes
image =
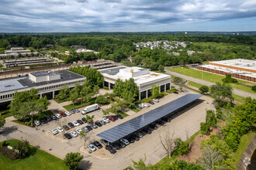
[[[234,97],[232,96],[232,91],[233,89],[232,87],[230,87],[230,85],[227,85],[225,83],[216,83],[210,87],[209,93],[220,101],[220,107],[222,107],[223,102],[226,99],[229,99],[230,101],[234,100]]]

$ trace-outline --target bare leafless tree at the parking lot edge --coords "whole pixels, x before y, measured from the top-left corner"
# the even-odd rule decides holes
[[[164,131],[160,135],[161,145],[163,145],[164,150],[168,153],[169,158],[171,158],[171,152],[175,148],[175,133],[171,131]]]

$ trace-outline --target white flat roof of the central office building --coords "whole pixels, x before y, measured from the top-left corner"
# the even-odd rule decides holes
[[[107,76],[107,77],[115,79],[115,80],[117,80],[117,79],[126,80],[129,77],[127,77],[125,75],[122,75],[122,74],[119,74],[119,70],[133,69],[133,68],[135,68],[135,67],[115,66],[115,67],[112,67],[112,68],[99,70],[99,72],[102,73],[103,76]],[[144,68],[140,68],[140,67],[136,67],[136,68],[137,68],[137,70],[135,70],[135,72],[144,70]],[[140,70],[138,70],[138,69],[140,69]],[[142,83],[147,83],[147,82],[154,82],[156,80],[160,80],[160,79],[163,79],[163,78],[170,78],[170,81],[171,81],[171,76],[170,75],[163,74],[163,73],[151,72],[151,71],[147,74],[144,74],[144,75],[141,75],[141,76],[134,76],[132,78],[134,79],[135,83],[137,83],[137,84],[142,84]]]

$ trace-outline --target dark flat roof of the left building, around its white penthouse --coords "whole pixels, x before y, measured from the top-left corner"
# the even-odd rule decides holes
[[[38,87],[38,86],[42,86],[50,83],[59,83],[67,80],[75,80],[75,79],[80,79],[85,77],[68,70],[61,70],[61,71],[58,71],[58,73],[61,74],[60,80],[43,81],[39,83],[35,83],[32,80],[29,80],[29,76],[18,76],[18,77],[9,78],[9,79],[2,79],[0,80],[0,93],[12,91],[12,90],[21,90],[25,88]]]

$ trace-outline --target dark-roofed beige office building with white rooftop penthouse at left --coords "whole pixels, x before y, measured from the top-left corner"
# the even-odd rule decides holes
[[[58,72],[41,71],[0,80],[0,104],[7,104],[12,100],[16,91],[37,89],[40,97],[54,98],[61,87],[74,87],[75,83],[84,83],[85,76],[67,70]]]

